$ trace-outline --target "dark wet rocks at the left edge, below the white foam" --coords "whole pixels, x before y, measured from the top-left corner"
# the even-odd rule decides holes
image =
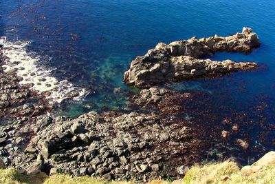
[[[0,45],[0,158],[5,165],[10,165],[14,155],[30,141],[36,130],[30,124],[36,123],[37,117],[53,107],[42,95],[30,90],[30,86],[19,85],[22,79],[16,71],[3,72],[3,60]]]

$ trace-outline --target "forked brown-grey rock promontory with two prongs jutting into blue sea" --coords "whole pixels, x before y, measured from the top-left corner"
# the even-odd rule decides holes
[[[143,57],[131,62],[124,73],[124,82],[138,88],[146,88],[170,80],[194,79],[200,76],[215,76],[250,70],[256,67],[254,62],[231,60],[212,61],[201,59],[214,52],[252,52],[261,45],[259,37],[251,28],[243,28],[241,33],[229,37],[214,37],[174,41],[168,45],[158,43]]]

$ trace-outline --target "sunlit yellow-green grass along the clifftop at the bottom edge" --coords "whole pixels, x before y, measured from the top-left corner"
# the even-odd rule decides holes
[[[223,180],[227,176],[228,179]],[[14,168],[0,169],[0,183],[5,184],[133,184],[133,181],[104,181],[90,176],[74,177],[65,174],[47,176],[36,174],[26,176],[19,174]],[[155,180],[149,184],[168,184],[168,181]],[[275,165],[263,166],[259,172],[242,175],[238,165],[232,161],[195,165],[177,184],[273,184],[275,183]]]

